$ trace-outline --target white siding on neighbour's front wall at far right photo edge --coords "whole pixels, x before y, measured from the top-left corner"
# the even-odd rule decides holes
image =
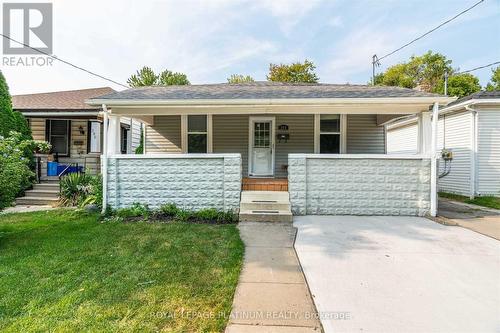
[[[500,110],[478,113],[477,194],[500,195]]]

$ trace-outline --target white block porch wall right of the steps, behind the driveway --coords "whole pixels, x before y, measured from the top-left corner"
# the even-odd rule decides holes
[[[388,155],[288,157],[295,215],[416,215],[430,209],[429,158]]]

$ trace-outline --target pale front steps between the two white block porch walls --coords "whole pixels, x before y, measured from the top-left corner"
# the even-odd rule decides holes
[[[240,221],[291,223],[289,198],[288,192],[242,191]]]

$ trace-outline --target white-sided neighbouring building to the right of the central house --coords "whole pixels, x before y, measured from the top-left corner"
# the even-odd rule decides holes
[[[418,118],[386,125],[389,154],[416,154]],[[500,196],[500,91],[480,91],[439,110],[438,150],[451,151],[439,162],[439,191],[469,196]]]

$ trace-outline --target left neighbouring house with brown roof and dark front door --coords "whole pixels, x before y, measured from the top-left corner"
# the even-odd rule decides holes
[[[52,158],[59,162],[59,172],[73,165],[97,173],[102,153],[101,106],[85,103],[89,98],[114,93],[109,87],[57,91],[12,96],[13,109],[28,120],[33,139],[52,145]],[[140,143],[142,124],[124,117],[120,122],[120,152],[130,154]],[[40,179],[47,177],[47,156],[42,156]],[[49,159],[51,159],[49,157]]]

